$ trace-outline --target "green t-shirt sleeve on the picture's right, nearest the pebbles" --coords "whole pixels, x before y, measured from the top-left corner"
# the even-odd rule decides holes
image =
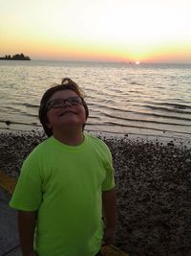
[[[115,187],[112,153],[107,146],[105,149],[105,156],[106,156],[106,162],[105,162],[106,177],[102,184],[102,191],[112,190]]]

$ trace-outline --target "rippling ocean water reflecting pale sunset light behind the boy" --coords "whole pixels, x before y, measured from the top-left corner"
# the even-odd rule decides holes
[[[40,99],[65,77],[85,93],[88,130],[191,139],[191,64],[0,60],[0,130],[40,130]]]

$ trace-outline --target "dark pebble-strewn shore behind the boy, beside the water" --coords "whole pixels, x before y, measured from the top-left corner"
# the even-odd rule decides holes
[[[131,256],[191,255],[191,149],[181,141],[100,136],[112,151],[117,183],[116,245]],[[0,133],[0,169],[18,176],[45,136]]]

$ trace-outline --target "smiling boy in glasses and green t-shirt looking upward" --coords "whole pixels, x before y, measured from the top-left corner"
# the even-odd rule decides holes
[[[71,79],[42,97],[39,119],[49,138],[25,160],[10,203],[18,209],[24,256],[95,256],[102,242],[113,242],[112,157],[101,140],[83,132],[88,115]]]

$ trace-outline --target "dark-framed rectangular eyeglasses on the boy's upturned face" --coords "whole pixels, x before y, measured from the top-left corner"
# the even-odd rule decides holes
[[[68,99],[55,99],[48,103],[47,110],[50,108],[58,108],[64,106],[66,103],[69,103],[70,105],[81,105],[82,104],[82,98],[80,97],[70,97]]]

